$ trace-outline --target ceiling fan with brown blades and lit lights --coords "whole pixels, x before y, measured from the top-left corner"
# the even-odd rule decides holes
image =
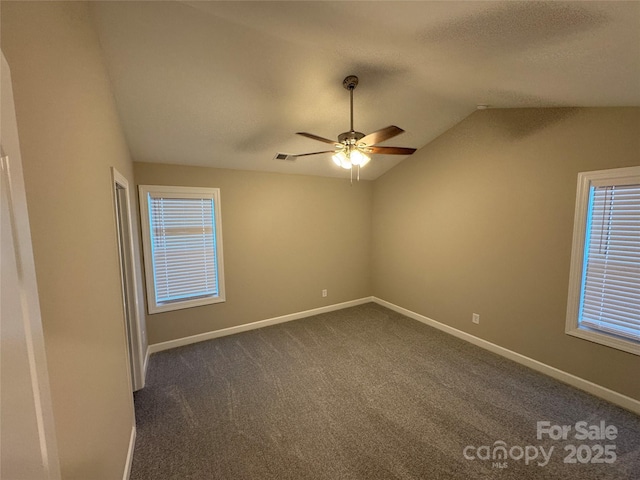
[[[348,132],[343,132],[338,135],[338,141],[330,140],[328,138],[319,137],[312,133],[296,132],[297,135],[317,140],[319,142],[328,143],[333,145],[333,150],[324,150],[321,152],[300,153],[300,154],[281,154],[276,155],[276,158],[281,159],[295,159],[296,157],[305,157],[308,155],[319,155],[321,153],[333,153],[333,162],[347,170],[351,170],[353,174],[353,167],[358,168],[358,177],[360,176],[360,168],[369,163],[369,155],[380,153],[385,155],[411,155],[416,151],[415,148],[407,147],[386,147],[378,146],[377,143],[389,140],[404,132],[395,125],[390,125],[381,130],[377,130],[373,133],[365,135],[361,132],[356,132],[353,129],[353,91],[358,85],[358,77],[355,75],[349,75],[342,81],[344,88],[349,90],[350,99],[350,112],[351,112],[351,128]],[[292,158],[293,157],[293,158]]]

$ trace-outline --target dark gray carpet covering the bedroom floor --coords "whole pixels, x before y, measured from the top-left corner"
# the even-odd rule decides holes
[[[640,417],[372,303],[154,354],[135,405],[132,480],[640,478]]]

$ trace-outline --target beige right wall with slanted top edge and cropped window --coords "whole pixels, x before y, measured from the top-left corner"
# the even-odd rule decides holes
[[[373,294],[640,400],[564,333],[577,173],[638,164],[640,108],[476,112],[375,182]]]

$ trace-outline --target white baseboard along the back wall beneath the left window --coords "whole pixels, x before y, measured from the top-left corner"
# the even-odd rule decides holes
[[[319,307],[319,308],[314,308],[312,310],[305,310],[303,312],[290,313],[288,315],[282,315],[281,317],[268,318],[266,320],[259,320],[257,322],[252,322],[252,323],[245,323],[244,325],[238,325],[236,327],[223,328],[221,330],[214,330],[212,332],[200,333],[198,335],[192,335],[190,337],[183,337],[175,340],[169,340],[167,342],[154,343],[153,345],[149,345],[147,349],[147,357],[151,353],[161,352],[163,350],[169,350],[170,348],[182,347],[184,345],[203,342],[205,340],[211,340],[213,338],[233,335],[234,333],[246,332],[248,330],[255,330],[257,328],[268,327],[269,325],[276,325],[278,323],[290,322],[292,320],[311,317],[313,315],[319,315],[321,313],[333,312],[335,310],[342,310],[343,308],[355,307],[357,305],[362,305],[364,303],[370,303],[373,301],[374,301],[373,297],[359,298],[357,300],[351,300],[348,302],[327,305],[326,307]]]

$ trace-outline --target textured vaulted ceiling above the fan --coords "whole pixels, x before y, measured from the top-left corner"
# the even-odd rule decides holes
[[[135,160],[348,177],[297,131],[420,148],[496,108],[640,106],[640,2],[92,2]],[[375,155],[374,179],[406,157]]]

